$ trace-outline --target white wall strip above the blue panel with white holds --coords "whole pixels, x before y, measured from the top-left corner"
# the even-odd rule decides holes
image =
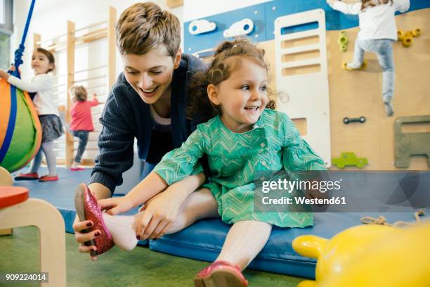
[[[224,13],[272,0],[184,0],[183,22]]]

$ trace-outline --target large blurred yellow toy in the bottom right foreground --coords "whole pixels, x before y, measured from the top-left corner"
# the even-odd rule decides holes
[[[327,240],[299,236],[297,253],[317,258],[316,281],[299,287],[429,287],[430,222],[414,227],[351,227]]]

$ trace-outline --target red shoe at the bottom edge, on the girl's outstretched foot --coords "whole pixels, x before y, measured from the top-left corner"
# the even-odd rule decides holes
[[[237,265],[233,266],[227,261],[215,261],[195,276],[194,286],[246,287],[248,281]]]

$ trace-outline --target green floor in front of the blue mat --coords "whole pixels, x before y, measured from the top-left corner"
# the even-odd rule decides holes
[[[0,236],[0,273],[37,272],[39,231],[35,227],[13,229],[13,235]],[[55,247],[54,247],[55,248]],[[124,252],[113,248],[96,262],[77,251],[73,234],[66,234],[67,286],[193,286],[197,272],[207,262],[157,253],[144,247]],[[246,270],[249,286],[295,287],[297,277]],[[36,283],[5,283],[0,286],[37,286]]]

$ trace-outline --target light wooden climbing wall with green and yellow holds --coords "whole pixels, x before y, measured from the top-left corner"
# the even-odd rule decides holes
[[[421,28],[422,34],[412,39],[408,48],[400,42],[393,44],[396,64],[396,90],[393,99],[394,116],[386,117],[382,103],[382,69],[377,57],[365,53],[367,68],[360,72],[346,72],[342,63],[353,57],[353,44],[358,27],[346,29],[349,44],[341,52],[340,30],[326,32],[327,63],[330,95],[330,133],[332,158],[342,152],[354,152],[358,158],[367,158],[363,170],[403,170],[394,166],[394,121],[396,117],[430,115],[430,8],[410,11],[396,16],[399,30]],[[276,89],[275,41],[259,43],[266,50],[271,63],[271,88]],[[278,97],[278,101],[280,101]],[[306,108],[306,106],[304,106]],[[366,117],[366,122],[343,123],[344,117]],[[294,120],[302,134],[307,134],[306,122]],[[403,125],[402,132],[430,132],[429,124]],[[336,166],[330,167],[337,169]],[[357,167],[346,167],[358,170]],[[409,170],[430,170],[425,156],[413,156]]]

